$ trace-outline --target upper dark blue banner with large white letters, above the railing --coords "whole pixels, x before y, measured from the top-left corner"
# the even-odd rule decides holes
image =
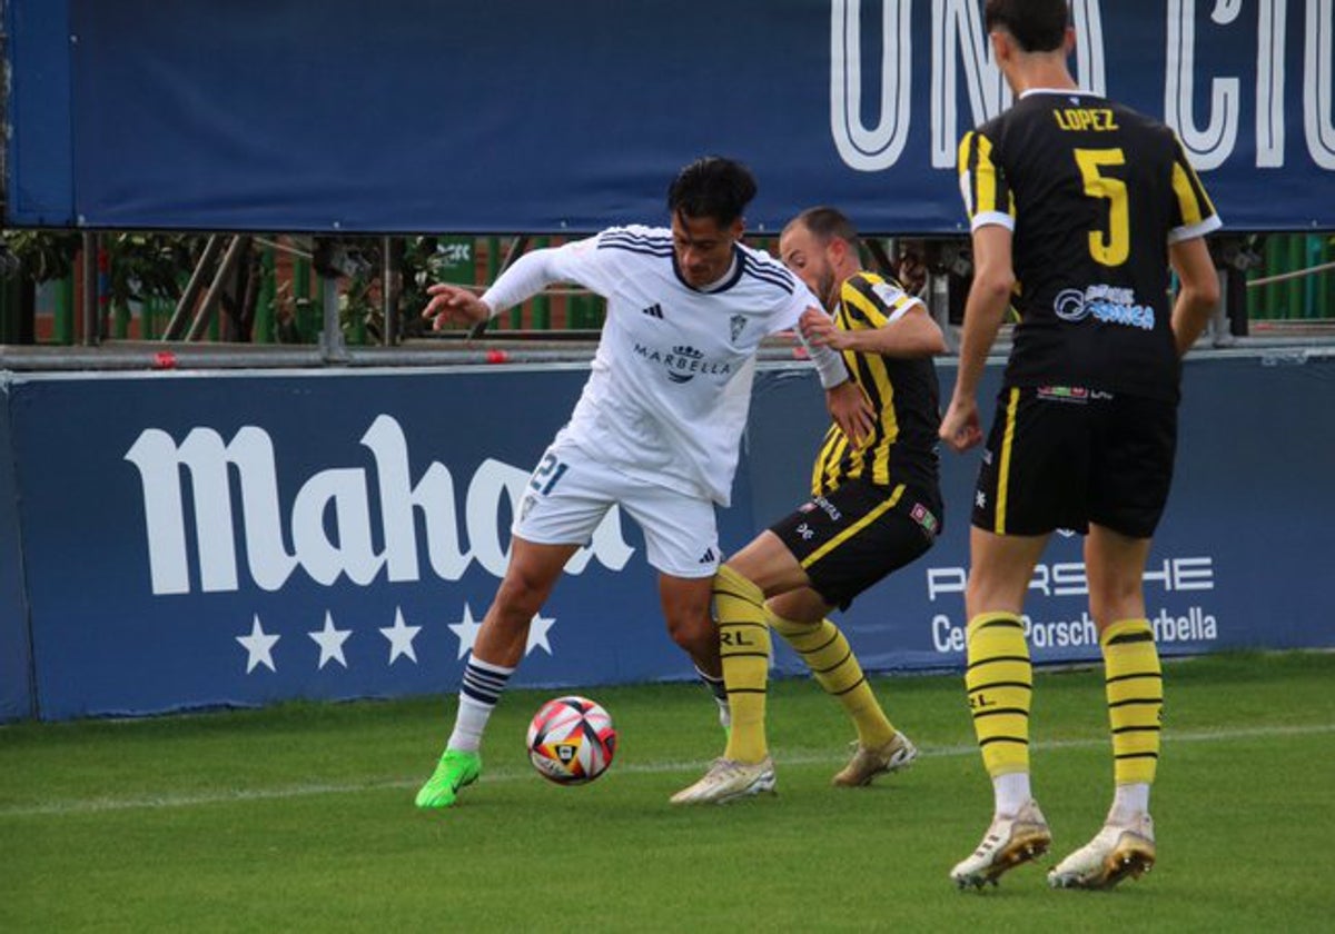
[[[1073,0],[1073,71],[1179,131],[1226,223],[1335,227],[1332,0]],[[577,232],[746,160],[753,231],[832,203],[959,234],[1011,103],[981,0],[9,0],[8,223]],[[1264,192],[1264,196],[1260,196]]]

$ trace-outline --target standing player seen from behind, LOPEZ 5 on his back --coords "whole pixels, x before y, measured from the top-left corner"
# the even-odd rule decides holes
[[[975,276],[940,432],[955,450],[983,440],[977,384],[1012,299],[1020,323],[979,470],[965,588],[965,684],[995,810],[951,877],[996,882],[1052,839],[1029,787],[1021,612],[1063,527],[1087,532],[1115,793],[1099,834],[1048,881],[1104,889],[1156,858],[1163,676],[1143,574],[1172,479],[1180,358],[1219,300],[1203,238],[1220,221],[1171,129],[1076,87],[1067,0],[987,0],[984,16],[1017,100],[960,143]]]

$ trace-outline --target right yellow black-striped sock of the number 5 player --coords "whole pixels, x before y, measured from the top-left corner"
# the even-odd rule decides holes
[[[1148,619],[1123,619],[1099,636],[1103,648],[1108,722],[1112,727],[1113,781],[1155,781],[1164,680]]]

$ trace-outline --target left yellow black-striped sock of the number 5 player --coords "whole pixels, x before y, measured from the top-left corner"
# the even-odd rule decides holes
[[[1024,624],[1013,612],[983,612],[967,630],[964,684],[983,765],[992,778],[1029,771],[1029,698],[1033,667]]]

